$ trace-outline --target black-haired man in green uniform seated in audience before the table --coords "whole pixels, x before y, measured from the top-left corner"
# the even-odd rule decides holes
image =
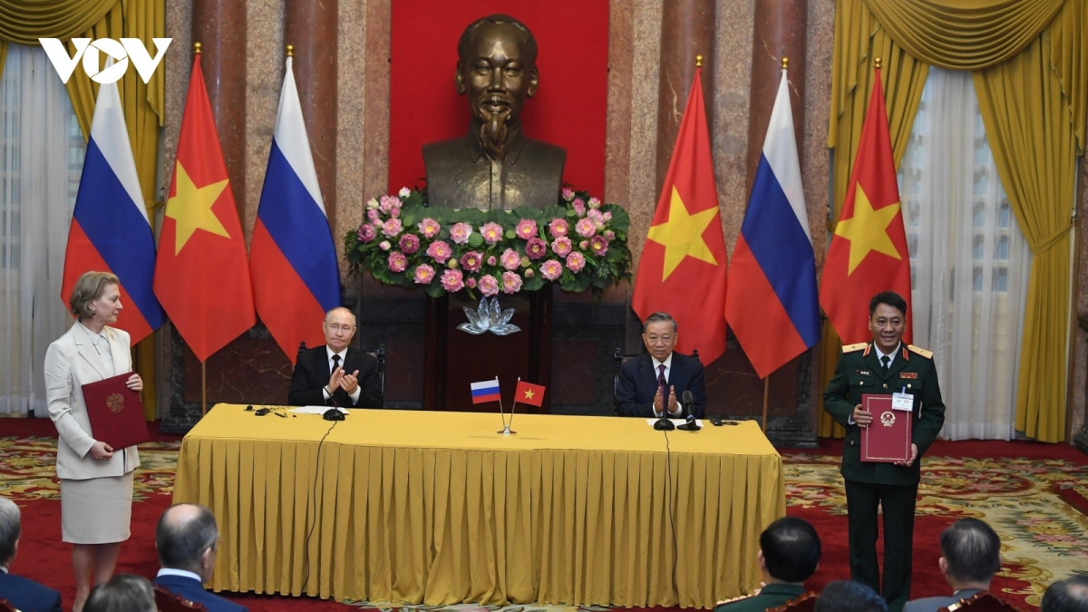
[[[714,612],[763,612],[805,593],[805,580],[819,567],[819,535],[805,519],[779,518],[759,535],[763,588],[756,595],[719,603]]]

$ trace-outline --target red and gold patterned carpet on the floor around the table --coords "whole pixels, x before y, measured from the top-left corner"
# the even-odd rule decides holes
[[[4,419],[5,420],[5,419]],[[11,421],[8,421],[11,423]],[[3,420],[0,420],[3,424]],[[4,428],[5,430],[8,428]],[[24,535],[14,571],[74,592],[69,549],[60,543],[59,489],[54,478],[55,438],[0,438],[0,494],[23,506]],[[140,445],[135,479],[133,538],[122,547],[119,571],[153,575],[154,522],[170,503],[178,441]],[[839,476],[839,445],[815,452],[784,452],[788,513],[812,522],[824,540],[820,570],[809,580],[824,584],[849,576],[845,497]],[[979,455],[991,456],[979,456]],[[938,535],[956,518],[981,518],[1002,538],[1004,564],[994,590],[1022,609],[1037,607],[1046,586],[1068,574],[1088,574],[1088,457],[1068,446],[1023,442],[938,442],[923,470],[915,527],[913,597],[944,595],[937,570]],[[475,612],[494,607],[403,607],[276,596],[228,595],[252,610],[448,610]],[[347,604],[347,605],[345,605]],[[509,611],[601,611],[602,608],[517,605]]]

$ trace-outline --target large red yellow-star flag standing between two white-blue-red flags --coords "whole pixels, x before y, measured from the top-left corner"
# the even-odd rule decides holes
[[[199,54],[159,236],[154,294],[200,362],[257,322],[246,242]]]

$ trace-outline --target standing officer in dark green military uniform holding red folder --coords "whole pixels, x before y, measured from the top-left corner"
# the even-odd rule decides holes
[[[906,302],[892,292],[869,302],[871,343],[842,347],[834,377],[824,391],[824,409],[846,429],[842,478],[846,488],[850,574],[865,583],[899,612],[911,595],[914,502],[920,478],[919,458],[944,424],[944,401],[937,382],[934,354],[901,342]],[[912,402],[911,458],[899,463],[862,462],[862,429],[873,423],[863,409],[865,393],[905,393]],[[877,565],[877,507],[883,511],[883,588]]]

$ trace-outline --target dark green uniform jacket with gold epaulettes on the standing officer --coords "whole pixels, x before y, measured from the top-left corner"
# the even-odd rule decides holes
[[[862,462],[862,429],[850,425],[854,406],[865,393],[892,393],[906,388],[914,396],[912,441],[918,446],[918,460],[910,467],[890,463]],[[842,476],[848,480],[877,485],[917,485],[922,455],[944,425],[944,401],[937,382],[937,368],[928,351],[901,344],[886,372],[873,343],[843,346],[834,376],[824,391],[824,409],[846,428],[842,445]],[[871,426],[870,426],[871,427]]]

